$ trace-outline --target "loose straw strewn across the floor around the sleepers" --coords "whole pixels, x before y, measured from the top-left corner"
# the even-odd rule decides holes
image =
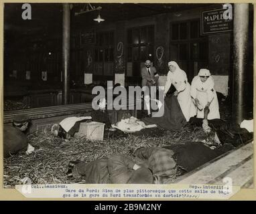
[[[149,129],[147,129],[149,130]],[[191,142],[202,128],[183,128],[177,131],[166,131],[150,128],[143,134],[105,133],[105,140],[90,141],[85,138],[65,140],[53,134],[30,134],[29,140],[35,147],[32,154],[25,152],[4,160],[4,187],[13,188],[23,184],[27,177],[32,184],[84,183],[84,180],[68,179],[67,165],[70,160],[92,161],[115,152],[131,156],[135,148],[140,146],[165,146]]]

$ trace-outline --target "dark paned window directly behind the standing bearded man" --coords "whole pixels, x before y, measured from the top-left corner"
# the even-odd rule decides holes
[[[154,26],[127,29],[127,76],[140,76],[145,60],[153,61]]]

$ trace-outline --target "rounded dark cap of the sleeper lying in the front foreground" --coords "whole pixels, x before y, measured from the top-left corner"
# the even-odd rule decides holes
[[[145,167],[133,171],[128,183],[153,184],[153,173]]]

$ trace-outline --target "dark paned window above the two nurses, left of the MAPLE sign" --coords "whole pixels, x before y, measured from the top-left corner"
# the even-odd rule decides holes
[[[208,39],[200,35],[200,21],[170,24],[170,58],[176,61],[188,80],[208,65]]]

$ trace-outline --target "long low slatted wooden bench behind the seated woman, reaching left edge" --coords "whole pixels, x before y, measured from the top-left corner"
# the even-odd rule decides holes
[[[137,102],[141,102],[141,100],[137,100]],[[112,116],[115,118],[114,120],[120,120],[121,114],[124,112],[129,112],[131,116],[137,116],[137,110],[131,109],[131,106],[135,106],[136,102],[127,101],[127,110],[119,110],[114,112]],[[121,106],[121,108],[125,108],[125,106]],[[62,105],[62,106],[50,106],[50,107],[42,107],[42,108],[29,108],[24,110],[13,110],[3,112],[3,123],[11,124],[13,122],[13,117],[17,114],[27,114],[31,118],[31,126],[29,128],[29,133],[31,132],[50,132],[52,126],[56,123],[59,123],[64,118],[70,116],[90,116],[90,112],[92,111],[91,102],[84,104],[71,104],[71,105]],[[121,114],[120,114],[121,113]]]

